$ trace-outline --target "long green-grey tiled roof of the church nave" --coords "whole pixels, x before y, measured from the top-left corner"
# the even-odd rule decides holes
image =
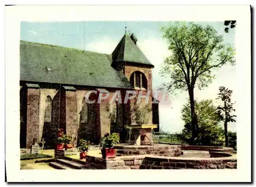
[[[131,88],[112,66],[112,55],[20,41],[20,80]]]

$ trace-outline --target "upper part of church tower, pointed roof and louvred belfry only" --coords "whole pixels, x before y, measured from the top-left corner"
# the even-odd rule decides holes
[[[154,65],[137,46],[134,33],[126,33],[112,53],[112,66],[122,71],[136,90],[152,92],[152,68]]]

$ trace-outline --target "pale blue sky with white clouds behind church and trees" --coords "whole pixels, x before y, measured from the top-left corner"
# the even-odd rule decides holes
[[[159,75],[163,60],[170,55],[168,43],[162,37],[161,27],[172,22],[22,22],[20,24],[20,39],[36,43],[51,44],[69,48],[111,54],[120,39],[125,27],[127,32],[136,34],[137,45],[155,66],[152,71],[153,89],[159,88],[164,78]],[[223,22],[199,23],[214,27],[219,35],[223,35],[224,43],[234,46],[234,31],[224,32]],[[236,66],[226,65],[216,72],[216,78],[203,90],[195,89],[195,98],[216,100],[219,87],[230,90],[236,87],[233,77],[236,76]],[[235,94],[235,93],[234,93]],[[188,93],[179,92],[170,96],[169,105],[159,105],[159,123],[165,132],[180,133],[184,127],[181,119],[181,109],[187,102]],[[234,98],[231,98],[235,101]],[[216,102],[216,105],[218,103]],[[234,105],[236,109],[236,104]],[[236,123],[228,123],[229,131],[236,131]]]

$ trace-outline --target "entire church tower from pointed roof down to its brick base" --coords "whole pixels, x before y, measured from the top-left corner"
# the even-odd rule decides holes
[[[137,46],[135,34],[125,32],[112,53],[112,67],[122,71],[137,94],[142,90],[142,95],[149,96],[147,101],[145,97],[141,98],[139,104],[136,104],[138,97],[124,104],[124,113],[126,114],[124,124],[139,124],[140,122],[136,119],[136,111],[143,110],[144,107],[149,110],[145,110],[147,112],[143,116],[143,124],[152,124],[154,118],[152,112],[152,68],[154,65]]]

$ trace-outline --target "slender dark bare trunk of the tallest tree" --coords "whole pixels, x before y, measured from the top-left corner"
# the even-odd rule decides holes
[[[196,138],[198,138],[198,121],[197,114],[195,111],[195,100],[194,100],[194,88],[188,90],[189,101],[190,101],[190,112],[191,112],[191,127],[192,127],[192,144],[197,144]]]

